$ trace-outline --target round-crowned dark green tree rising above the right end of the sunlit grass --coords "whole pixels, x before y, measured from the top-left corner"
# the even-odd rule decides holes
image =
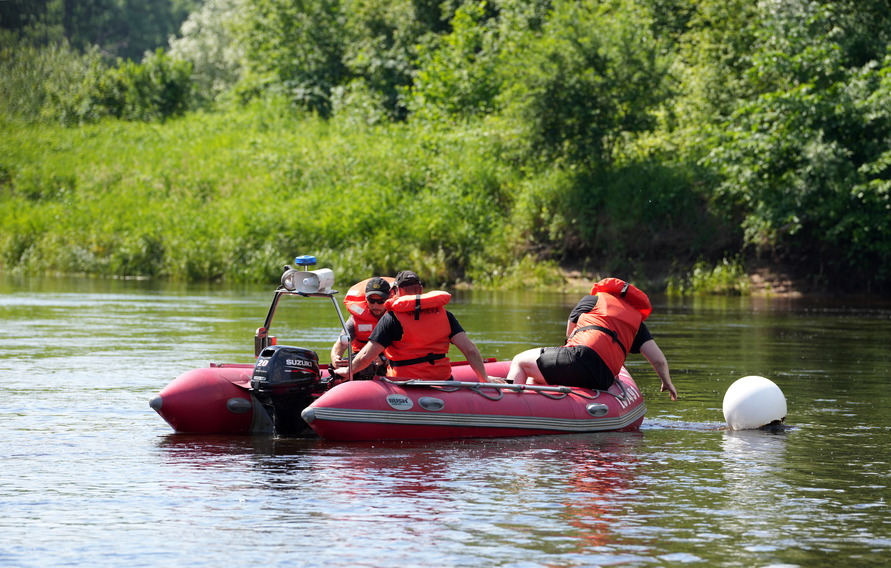
[[[531,155],[603,167],[623,135],[655,124],[668,61],[649,22],[634,0],[555,2],[542,32],[503,66],[506,112]]]

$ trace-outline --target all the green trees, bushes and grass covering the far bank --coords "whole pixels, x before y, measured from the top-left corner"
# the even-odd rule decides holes
[[[891,288],[884,0],[73,4],[0,9],[4,271]]]

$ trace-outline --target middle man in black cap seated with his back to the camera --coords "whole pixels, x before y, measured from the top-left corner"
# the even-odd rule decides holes
[[[383,353],[389,364],[389,377],[447,380],[452,376],[449,346],[454,344],[477,378],[488,382],[479,349],[455,316],[445,309],[451,295],[442,291],[425,294],[421,279],[411,270],[397,274],[394,287],[396,297],[387,302],[389,311],[353,359],[353,373]],[[339,368],[335,373],[346,376],[348,370]]]

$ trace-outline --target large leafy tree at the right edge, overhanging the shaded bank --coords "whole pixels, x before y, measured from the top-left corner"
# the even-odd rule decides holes
[[[706,163],[721,174],[714,202],[740,215],[746,244],[821,266],[832,284],[878,285],[891,280],[891,57],[848,67],[836,9],[762,8],[746,74],[754,94]]]

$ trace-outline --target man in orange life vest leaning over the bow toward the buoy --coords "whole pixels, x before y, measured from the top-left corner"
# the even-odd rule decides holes
[[[651,311],[649,298],[638,288],[605,278],[570,313],[566,344],[518,353],[511,361],[508,382],[606,390],[628,353],[640,353],[659,375],[660,390],[677,400],[668,361],[643,323]]]

